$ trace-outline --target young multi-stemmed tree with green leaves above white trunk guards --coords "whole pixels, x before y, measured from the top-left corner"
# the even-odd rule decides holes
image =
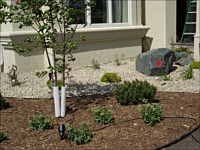
[[[8,21],[18,23],[20,29],[32,27],[36,31],[35,36],[25,39],[32,47],[22,48],[17,43],[12,43],[14,49],[25,52],[41,45],[46,51],[48,69],[55,85],[57,73],[62,73],[62,88],[65,87],[65,70],[69,69],[66,61],[75,60],[72,52],[84,40],[82,36],[78,40],[74,39],[74,35],[78,24],[86,26],[84,14],[89,5],[84,0],[17,0],[9,6]],[[53,64],[48,49],[53,51]],[[42,72],[44,73],[46,72]]]

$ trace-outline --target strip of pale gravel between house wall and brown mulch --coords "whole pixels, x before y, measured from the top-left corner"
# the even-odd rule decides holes
[[[91,66],[83,68],[72,68],[71,79],[67,80],[67,96],[85,95],[95,93],[106,93],[113,89],[112,84],[101,83],[100,78],[106,72],[115,72],[122,77],[122,80],[147,80],[155,85],[158,91],[191,92],[199,93],[200,70],[194,70],[194,78],[183,80],[181,72],[184,67],[175,66],[177,69],[170,73],[172,81],[164,81],[161,77],[148,77],[135,69],[135,61],[132,59],[123,60],[120,66],[114,62],[101,64],[100,69],[92,69]],[[35,72],[18,73],[18,80],[21,85],[12,87],[8,75],[1,73],[1,93],[5,97],[18,98],[49,98],[51,91],[47,88],[48,76],[38,78]]]

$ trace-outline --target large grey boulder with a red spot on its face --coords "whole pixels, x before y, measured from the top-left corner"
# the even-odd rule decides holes
[[[136,70],[148,76],[167,75],[172,70],[174,61],[174,51],[158,48],[139,54],[136,59]]]

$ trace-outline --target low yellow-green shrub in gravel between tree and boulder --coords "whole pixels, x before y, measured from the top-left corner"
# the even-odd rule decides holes
[[[102,77],[101,77],[101,82],[106,82],[106,83],[110,83],[110,82],[121,82],[122,79],[120,76],[118,76],[116,73],[105,73]]]

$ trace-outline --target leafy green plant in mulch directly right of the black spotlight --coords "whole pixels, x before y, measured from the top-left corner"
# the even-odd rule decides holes
[[[92,140],[92,134],[86,124],[82,124],[80,128],[74,128],[72,125],[66,125],[67,138],[76,144],[85,144]]]

